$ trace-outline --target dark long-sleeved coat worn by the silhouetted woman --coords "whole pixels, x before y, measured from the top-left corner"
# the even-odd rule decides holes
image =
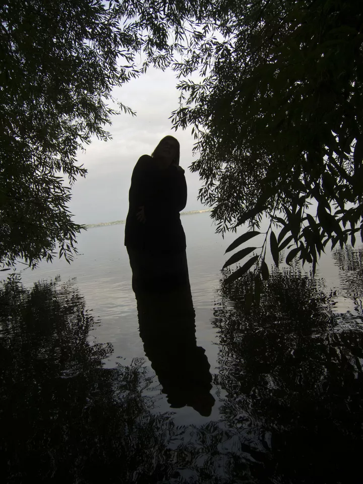
[[[186,204],[184,172],[176,166],[157,169],[151,156],[141,156],[131,178],[125,245],[150,254],[184,251],[186,238],[179,212]],[[136,217],[140,206],[145,207],[145,223]]]

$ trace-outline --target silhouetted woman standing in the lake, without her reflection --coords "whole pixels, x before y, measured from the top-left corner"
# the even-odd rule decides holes
[[[179,157],[178,141],[166,136],[151,156],[141,156],[132,174],[125,245],[135,293],[189,282],[179,214],[187,204],[187,184]]]

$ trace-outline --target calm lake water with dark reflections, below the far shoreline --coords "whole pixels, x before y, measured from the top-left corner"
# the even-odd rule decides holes
[[[6,481],[362,482],[360,249],[325,255],[314,279],[281,266],[227,287],[236,235],[208,213],[182,222],[196,339],[188,302],[163,298],[141,339],[124,225],[3,289]]]

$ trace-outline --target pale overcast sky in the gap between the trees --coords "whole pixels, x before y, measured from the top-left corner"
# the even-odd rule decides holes
[[[73,187],[70,210],[78,223],[123,220],[128,212],[128,194],[132,170],[138,158],[151,154],[161,138],[175,136],[180,143],[180,165],[186,170],[187,210],[206,208],[197,200],[201,187],[199,175],[188,169],[193,159],[194,137],[191,130],[171,130],[171,111],[178,106],[176,80],[171,71],[150,69],[138,79],[114,91],[114,97],[137,112],[119,114],[108,130],[112,140],[95,139],[79,154],[88,170]]]

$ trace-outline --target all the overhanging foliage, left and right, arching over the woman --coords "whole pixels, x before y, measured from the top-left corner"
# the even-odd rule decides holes
[[[201,156],[192,169],[217,231],[271,222],[250,267],[262,271],[267,246],[275,262],[290,249],[288,263],[297,256],[313,271],[328,244],[354,246],[363,237],[362,17],[359,0],[3,5],[0,263],[51,260],[57,244],[72,259],[82,227],[63,178],[85,175],[77,151],[92,136],[109,138],[112,88],[150,65],[172,65],[180,78],[173,124],[193,126]]]

